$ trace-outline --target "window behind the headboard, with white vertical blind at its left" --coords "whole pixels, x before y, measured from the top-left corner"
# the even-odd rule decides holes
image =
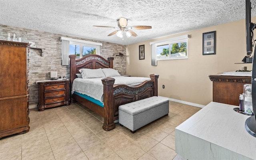
[[[88,54],[100,54],[102,43],[76,40],[72,38],[61,37],[62,41],[62,65],[69,65],[68,55],[76,55],[76,59],[82,58]]]

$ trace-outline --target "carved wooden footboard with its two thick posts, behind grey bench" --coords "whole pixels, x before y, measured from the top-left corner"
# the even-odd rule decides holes
[[[102,79],[104,85],[104,130],[115,128],[114,120],[118,120],[118,107],[152,96],[158,96],[157,82],[159,75],[150,75],[150,81],[144,81],[140,85],[114,85],[114,78]]]

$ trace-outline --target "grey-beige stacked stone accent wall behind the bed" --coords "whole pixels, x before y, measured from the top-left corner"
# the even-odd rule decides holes
[[[43,57],[41,56],[42,52],[40,49],[31,48],[30,53],[28,54],[28,87],[30,89],[30,108],[36,107],[38,103],[38,86],[36,81],[50,79],[50,71],[57,71],[58,76],[62,75],[68,78],[70,77],[69,66],[61,65],[62,59],[60,37],[102,43],[102,46],[100,46],[100,55],[106,59],[108,57],[114,57],[114,69],[117,69],[121,75],[126,75],[126,57],[113,55],[119,54],[119,52],[126,55],[125,45],[0,25],[0,40],[7,40],[8,33],[10,33],[11,37],[15,33],[16,38],[20,37],[22,42],[32,41],[35,42],[37,48],[44,49]]]

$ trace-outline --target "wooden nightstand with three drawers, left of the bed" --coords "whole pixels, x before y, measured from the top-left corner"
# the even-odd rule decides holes
[[[38,111],[70,105],[69,79],[36,81],[38,84]]]

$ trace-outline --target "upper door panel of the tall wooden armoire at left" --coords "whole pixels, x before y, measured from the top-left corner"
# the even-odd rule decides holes
[[[0,97],[26,95],[25,47],[0,46]]]

